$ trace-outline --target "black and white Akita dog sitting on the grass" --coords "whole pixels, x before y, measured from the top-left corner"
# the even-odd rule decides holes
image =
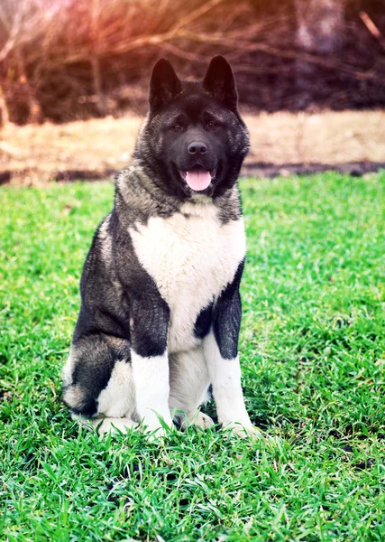
[[[94,236],[63,400],[99,433],[218,422],[256,435],[244,406],[238,335],[245,257],[237,179],[249,136],[230,64],[203,81],[170,61],[151,74],[149,113],[115,204]]]

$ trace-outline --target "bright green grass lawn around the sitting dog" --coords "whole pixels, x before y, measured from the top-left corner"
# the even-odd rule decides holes
[[[385,174],[242,187],[258,442],[99,439],[71,421],[60,369],[113,189],[1,190],[1,540],[385,539]]]

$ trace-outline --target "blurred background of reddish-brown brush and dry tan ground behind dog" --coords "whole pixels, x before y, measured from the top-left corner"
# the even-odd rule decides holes
[[[250,171],[385,162],[384,0],[0,0],[0,182],[114,173],[153,63],[202,78],[215,54],[234,67]]]

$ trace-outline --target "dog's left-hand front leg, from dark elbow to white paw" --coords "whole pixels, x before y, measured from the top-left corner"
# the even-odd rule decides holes
[[[167,425],[172,425],[167,351],[169,322],[170,309],[160,295],[135,295],[130,335],[136,410],[150,431],[161,427],[159,416]]]

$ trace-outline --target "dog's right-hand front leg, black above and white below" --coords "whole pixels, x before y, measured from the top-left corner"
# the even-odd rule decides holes
[[[215,303],[212,328],[204,341],[207,368],[219,422],[239,436],[259,435],[244,406],[238,337],[242,306],[239,294],[243,265]]]

